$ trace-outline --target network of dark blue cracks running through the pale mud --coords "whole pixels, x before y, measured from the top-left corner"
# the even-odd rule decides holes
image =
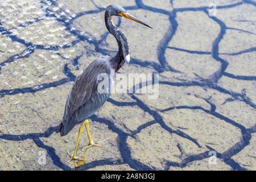
[[[43,3],[49,3],[51,6],[57,6],[57,1],[42,1]],[[93,2],[93,1],[92,1]],[[174,7],[174,0],[170,1],[171,6]],[[217,9],[230,9],[233,7],[237,7],[243,4],[250,4],[253,6],[256,6],[256,2],[250,1],[250,0],[243,0],[238,3],[230,4],[230,5],[224,5],[224,6],[217,6]],[[40,18],[35,18],[32,20],[29,20],[28,22],[24,22],[22,24],[19,24],[17,27],[7,29],[5,28],[0,20],[0,34],[3,36],[7,36],[8,38],[11,39],[12,42],[18,42],[20,44],[23,44],[23,46],[26,47],[22,52],[15,54],[13,56],[10,56],[8,59],[3,60],[0,63],[0,73],[1,73],[1,68],[6,67],[6,65],[9,65],[10,63],[14,61],[18,61],[22,58],[27,58],[30,57],[34,52],[35,49],[45,49],[45,50],[51,50],[51,51],[58,51],[59,49],[64,49],[64,48],[70,48],[75,46],[77,43],[80,42],[87,42],[89,44],[93,44],[95,47],[94,50],[88,50],[90,52],[98,52],[102,53],[102,55],[108,54],[108,50],[102,49],[101,46],[102,44],[106,43],[106,38],[108,37],[109,33],[105,32],[104,34],[101,35],[101,40],[97,41],[96,39],[92,38],[92,36],[88,33],[81,34],[80,31],[74,30],[72,25],[73,21],[77,18],[80,18],[81,16],[86,16],[89,14],[96,14],[104,11],[105,9],[103,7],[97,6],[96,3],[94,3],[94,6],[96,6],[97,9],[95,10],[89,10],[89,11],[82,11],[80,13],[75,14],[75,16],[72,16],[72,18],[68,18],[66,16],[57,16],[58,14],[61,14],[63,12],[63,9],[60,9],[57,13],[53,12],[52,10],[49,9],[49,6],[46,9],[46,15],[45,17],[51,17],[55,18],[59,23],[63,24],[65,27],[65,31],[71,33],[73,36],[75,36],[77,39],[69,44],[62,45],[62,46],[44,46],[44,45],[36,45],[32,44],[31,42],[27,42],[27,40],[21,39],[18,36],[12,34],[12,30],[18,28],[18,27],[27,27],[28,25],[39,22],[40,20],[44,19],[45,17],[40,17]],[[225,93],[231,96],[232,101],[233,100],[239,100],[244,102],[246,105],[249,105],[256,109],[256,105],[254,104],[253,101],[249,97],[246,96],[246,93],[235,93],[230,90],[226,90],[225,88],[221,88],[221,86],[218,86],[218,80],[222,76],[230,77],[236,80],[249,80],[249,81],[255,81],[256,76],[242,76],[242,75],[233,75],[232,73],[226,72],[226,69],[228,68],[228,62],[220,57],[220,55],[230,55],[230,56],[237,56],[241,55],[243,53],[249,53],[249,52],[254,52],[256,51],[256,47],[252,47],[249,49],[241,50],[239,52],[234,52],[234,53],[220,53],[219,51],[219,44],[222,41],[222,39],[225,36],[226,30],[236,30],[236,31],[243,31],[246,32],[247,34],[254,34],[253,32],[237,29],[237,28],[231,28],[227,27],[226,24],[221,20],[218,19],[214,16],[209,16],[209,19],[213,20],[213,22],[217,23],[218,26],[220,26],[220,32],[218,33],[217,38],[214,40],[212,43],[212,50],[210,52],[207,51],[193,51],[193,50],[188,50],[188,49],[183,49],[183,48],[178,48],[178,47],[171,47],[168,46],[169,43],[172,41],[172,38],[174,37],[177,27],[179,26],[179,22],[176,20],[176,13],[183,13],[185,11],[202,11],[205,14],[208,13],[209,7],[182,7],[182,8],[175,8],[171,11],[164,10],[164,9],[159,9],[156,7],[151,7],[147,6],[143,3],[142,0],[135,0],[135,5],[134,6],[127,6],[125,7],[127,10],[138,10],[138,9],[143,9],[146,11],[151,11],[153,13],[158,13],[158,14],[164,14],[169,16],[169,21],[170,21],[170,26],[166,30],[166,34],[163,36],[162,40],[160,40],[158,44],[158,62],[155,63],[154,61],[150,60],[138,60],[138,59],[131,59],[132,64],[138,64],[141,67],[150,67],[152,69],[155,69],[156,72],[158,73],[163,73],[166,71],[170,72],[175,72],[175,73],[181,73],[180,71],[177,71],[176,69],[172,68],[171,65],[167,63],[166,60],[166,50],[167,49],[174,49],[176,51],[181,51],[181,52],[186,52],[186,53],[191,53],[191,54],[198,54],[198,55],[211,55],[214,60],[218,61],[221,63],[220,69],[218,69],[212,76],[210,76],[206,80],[201,80],[201,81],[185,81],[185,82],[171,82],[171,81],[159,81],[159,84],[162,85],[170,85],[170,86],[200,86],[201,88],[209,88],[213,90],[217,90],[220,93]],[[117,26],[121,24],[121,20],[118,20]],[[0,51],[3,52],[3,51]],[[71,60],[71,63],[75,69],[79,69],[79,60],[82,55],[77,55],[73,60]],[[16,89],[2,89],[0,90],[0,98],[5,97],[5,96],[10,96],[10,95],[15,95],[15,94],[20,94],[20,93],[35,93],[39,92],[44,89],[52,88],[52,87],[57,87],[60,85],[67,84],[68,82],[75,81],[76,76],[73,75],[71,70],[68,68],[68,65],[65,64],[63,68],[63,73],[66,76],[65,78],[62,78],[61,80],[58,81],[53,81],[53,82],[47,82],[45,84],[40,84],[40,85],[35,85],[32,87],[27,87],[27,88],[16,88]],[[109,98],[108,102],[112,103],[115,106],[138,106],[141,110],[143,110],[145,113],[150,114],[154,120],[149,121],[147,123],[144,123],[143,125],[139,126],[136,130],[132,131],[130,134],[127,134],[123,132],[121,129],[118,129],[114,125],[112,121],[108,121],[105,118],[99,118],[97,115],[93,115],[91,118],[94,122],[99,122],[99,123],[104,123],[109,127],[111,131],[116,133],[118,135],[118,149],[119,152],[121,153],[122,160],[113,160],[113,159],[103,159],[103,160],[96,160],[93,162],[89,162],[85,166],[82,166],[80,168],[75,168],[76,170],[85,170],[85,169],[90,169],[94,168],[97,166],[104,166],[104,165],[114,165],[114,164],[128,164],[131,168],[137,169],[137,170],[154,170],[156,168],[152,168],[150,166],[146,166],[145,164],[142,164],[141,162],[138,162],[138,160],[135,160],[131,156],[131,149],[128,147],[126,141],[127,137],[134,137],[136,134],[140,133],[142,130],[146,129],[147,127],[154,125],[155,123],[159,123],[159,125],[166,131],[168,131],[170,134],[174,133],[179,135],[182,138],[188,139],[192,143],[195,143],[198,147],[201,147],[199,142],[190,137],[188,134],[185,134],[183,131],[176,129],[173,130],[170,127],[164,123],[163,118],[159,114],[159,111],[151,109],[149,106],[144,104],[143,101],[139,100],[138,97],[135,96],[135,94],[129,94],[131,98],[133,98],[134,102],[120,102],[120,101],[115,101],[112,98]],[[234,146],[230,147],[228,150],[223,152],[222,154],[218,153],[217,157],[224,160],[226,164],[228,164],[230,167],[232,167],[234,170],[245,170],[245,168],[241,167],[240,164],[235,162],[232,159],[232,156],[238,154],[240,151],[243,150],[249,143],[251,139],[251,134],[256,132],[256,125],[251,127],[250,129],[246,129],[244,126],[241,124],[237,123],[236,121],[233,121],[232,119],[225,117],[225,115],[222,115],[220,113],[216,112],[216,106],[212,104],[209,99],[205,101],[208,102],[210,105],[210,110],[204,109],[202,106],[175,106],[175,107],[168,107],[167,109],[162,109],[160,112],[165,112],[165,111],[170,111],[173,109],[190,109],[190,110],[201,110],[204,111],[207,114],[213,115],[216,118],[221,119],[221,121],[229,123],[230,125],[233,125],[234,127],[237,127],[238,129],[241,130],[242,138],[240,142],[234,144]],[[55,131],[56,127],[49,127],[44,133],[30,133],[30,134],[21,134],[21,135],[14,135],[14,134],[5,134],[1,132],[0,139],[5,139],[5,140],[11,140],[11,141],[23,141],[27,139],[32,139],[33,142],[38,146],[39,148],[43,148],[44,150],[47,151],[49,157],[52,160],[52,163],[64,170],[72,170],[72,168],[68,167],[66,164],[61,162],[60,157],[56,154],[55,149],[51,146],[47,146],[44,144],[44,142],[40,138],[48,138],[50,137],[53,132]],[[176,146],[179,148],[182,154],[182,150],[179,147],[179,144]],[[209,148],[210,150],[214,150],[213,148]],[[176,162],[171,162],[167,161],[166,162],[166,167],[165,169],[168,169],[169,167],[185,167],[189,163],[197,161],[197,160],[203,160],[206,158],[209,158],[208,152],[203,152],[201,154],[196,154],[196,155],[191,155],[188,156],[187,158],[181,160],[180,163]]]

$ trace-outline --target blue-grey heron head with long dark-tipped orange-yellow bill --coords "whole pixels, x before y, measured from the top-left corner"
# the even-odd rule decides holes
[[[132,20],[136,23],[143,24],[146,27],[152,28],[151,26],[147,25],[146,23],[142,22],[141,20],[138,20],[134,16],[127,13],[127,11],[119,5],[110,5],[110,6],[107,7],[107,10],[113,16],[120,16],[122,18],[126,18],[126,19]]]

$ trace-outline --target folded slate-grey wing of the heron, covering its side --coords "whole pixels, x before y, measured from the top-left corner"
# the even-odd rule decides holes
[[[96,59],[80,76],[69,92],[65,112],[61,121],[63,133],[67,134],[77,123],[94,114],[110,96],[110,93],[98,93],[98,75],[110,76],[110,57]],[[61,129],[60,129],[61,130]]]

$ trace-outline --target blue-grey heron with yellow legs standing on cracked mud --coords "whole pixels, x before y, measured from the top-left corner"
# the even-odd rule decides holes
[[[84,69],[81,75],[76,78],[68,94],[63,118],[60,121],[60,125],[56,129],[56,133],[60,133],[62,137],[67,135],[69,131],[71,131],[77,124],[82,123],[76,140],[75,151],[73,155],[68,152],[69,156],[71,157],[68,162],[75,160],[77,163],[81,162],[81,164],[85,164],[85,154],[83,158],[79,159],[77,157],[77,150],[79,148],[79,142],[84,128],[86,129],[89,139],[89,144],[85,147],[85,153],[92,146],[106,147],[102,146],[100,143],[109,139],[94,142],[92,137],[93,135],[90,134],[88,118],[96,113],[110,96],[110,92],[98,92],[97,88],[100,82],[98,80],[98,76],[105,73],[108,75],[110,80],[114,80],[115,74],[110,74],[111,70],[114,70],[115,73],[122,68],[125,63],[129,64],[130,61],[129,44],[127,42],[126,35],[114,25],[113,16],[133,20],[134,22],[152,28],[151,26],[148,26],[146,23],[127,13],[127,11],[119,5],[110,5],[106,8],[105,25],[110,34],[112,34],[117,40],[118,52],[113,57],[102,56],[94,60],[87,68]],[[112,84],[110,84],[110,87],[111,86]]]

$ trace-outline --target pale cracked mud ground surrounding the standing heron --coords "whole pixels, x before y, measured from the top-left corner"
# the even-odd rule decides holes
[[[112,94],[90,118],[95,140],[109,137],[109,147],[91,148],[74,168],[66,151],[79,126],[62,138],[54,131],[76,76],[117,51],[104,24],[113,3],[154,27],[114,19],[130,43],[120,72],[159,73],[159,98]],[[256,170],[255,1],[0,4],[0,170]]]

